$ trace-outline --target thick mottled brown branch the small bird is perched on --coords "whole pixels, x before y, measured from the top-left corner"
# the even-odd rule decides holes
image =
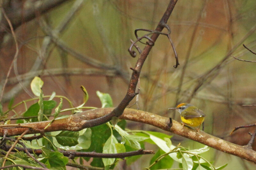
[[[75,115],[70,115],[69,117],[64,119],[55,120],[47,129],[45,129],[45,132],[59,130],[79,131],[84,128],[92,127],[93,124],[88,123],[88,120],[96,119],[107,115],[108,113],[113,111],[113,109],[114,108],[93,109],[77,113]],[[169,131],[182,137],[186,137],[188,139],[205,144],[222,152],[229,153],[256,163],[256,152],[252,149],[249,149],[246,146],[240,146],[230,143],[218,137],[207,134],[204,131],[199,131],[198,133],[195,129],[191,129],[186,126],[182,128],[182,124],[175,120],[172,120],[172,127],[170,127],[170,119],[167,117],[154,115],[152,113],[141,110],[126,108],[123,115],[121,115],[119,118],[135,122],[147,123],[165,131]],[[32,122],[20,125],[34,127],[34,129],[30,129],[28,133],[39,133],[40,131],[36,129],[44,129],[44,127],[47,126],[49,122],[50,121]],[[0,128],[0,136],[3,136],[4,133],[6,134],[6,136],[19,135],[26,129],[28,128]]]

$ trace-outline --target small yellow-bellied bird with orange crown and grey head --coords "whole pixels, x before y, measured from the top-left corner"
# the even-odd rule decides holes
[[[202,110],[188,103],[181,103],[177,107],[172,107],[168,109],[178,110],[178,112],[180,112],[182,128],[184,127],[184,124],[192,127],[199,126],[199,128],[196,128],[197,132],[199,132],[200,126],[204,122],[204,117],[205,117]],[[204,124],[203,124],[203,130],[204,130]]]

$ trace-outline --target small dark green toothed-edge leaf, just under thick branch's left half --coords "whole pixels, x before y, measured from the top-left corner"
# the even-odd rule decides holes
[[[57,136],[56,140],[62,146],[75,146],[78,144],[79,132],[61,131]]]

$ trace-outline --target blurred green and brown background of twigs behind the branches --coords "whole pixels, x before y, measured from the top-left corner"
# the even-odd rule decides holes
[[[46,13],[36,12],[29,22],[21,19],[22,25],[15,28],[19,55],[4,89],[4,108],[12,98],[17,103],[32,96],[28,82],[34,76],[44,80],[45,95],[55,91],[71,99],[74,106],[83,102],[80,85],[90,95],[89,106],[101,106],[97,90],[109,93],[117,106],[127,91],[132,73],[129,67],[134,67],[138,57],[137,54],[132,58],[127,51],[130,39],[136,39],[134,30],[155,29],[168,3],[167,0],[71,0]],[[15,8],[25,13],[31,5],[42,4],[44,1],[10,0],[5,2],[5,9],[11,16]],[[76,6],[76,12],[72,13]],[[255,11],[253,0],[179,0],[167,24],[172,30],[180,65],[173,68],[172,46],[166,36],[160,36],[142,68],[139,109],[180,121],[179,114],[167,108],[189,102],[207,115],[207,133],[236,144],[247,144],[248,132],[255,128],[228,134],[236,126],[255,123],[255,107],[242,105],[256,104],[256,67],[255,63],[235,60],[230,54],[256,60],[256,55],[242,46],[244,43],[256,51]],[[60,29],[71,14],[70,21]],[[2,89],[15,54],[15,43],[10,29],[3,26],[1,29],[6,32],[0,49]],[[144,32],[139,32],[142,35]],[[143,44],[137,44],[143,49]],[[134,102],[129,107],[137,108]],[[24,108],[20,109],[22,112]],[[128,122],[128,127],[159,130],[135,122]],[[172,141],[190,149],[202,146],[179,136],[174,136]],[[204,157],[214,159],[216,165],[229,163],[226,169],[255,169],[252,163],[213,149]],[[133,166],[140,167],[142,162],[137,161]]]

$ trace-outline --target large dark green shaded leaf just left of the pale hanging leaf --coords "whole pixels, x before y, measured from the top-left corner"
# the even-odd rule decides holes
[[[91,140],[93,141],[88,149],[81,150],[82,152],[98,152],[102,153],[103,145],[108,140],[111,135],[111,130],[109,129],[106,123],[101,124],[99,126],[95,126],[90,128],[92,130]],[[90,158],[84,158],[85,160],[89,160]],[[101,158],[93,158],[91,166],[96,167],[104,167]]]

